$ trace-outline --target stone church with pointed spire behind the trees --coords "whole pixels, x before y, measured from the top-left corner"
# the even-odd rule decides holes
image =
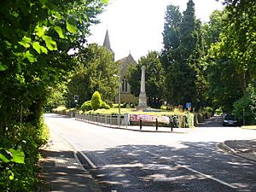
[[[108,30],[106,32],[103,47],[107,48],[109,51],[113,53],[113,60],[114,60],[114,52],[111,49],[110,39],[108,35]],[[121,84],[121,103],[136,103],[138,102],[138,98],[131,94],[130,84],[126,80],[126,70],[129,65],[137,65],[137,62],[133,59],[131,53],[125,58],[116,61],[119,64],[119,75],[120,75],[120,82]],[[118,96],[115,96],[115,102],[118,102]]]

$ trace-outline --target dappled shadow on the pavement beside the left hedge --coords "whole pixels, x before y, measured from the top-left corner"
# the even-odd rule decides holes
[[[84,192],[98,191],[92,185],[90,175],[84,174],[73,158],[73,151],[41,150],[44,158],[40,160],[42,172],[39,178],[42,184],[38,186],[40,192],[65,191]]]

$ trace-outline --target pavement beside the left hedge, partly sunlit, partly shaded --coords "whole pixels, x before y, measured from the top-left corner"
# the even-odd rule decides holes
[[[63,138],[50,132],[50,142],[43,149],[46,157],[40,160],[43,173],[40,174],[47,184],[44,192],[101,192],[94,179],[81,165],[77,155]]]

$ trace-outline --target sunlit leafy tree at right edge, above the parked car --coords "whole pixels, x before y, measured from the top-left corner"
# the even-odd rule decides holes
[[[247,95],[248,84],[255,79],[255,8],[253,1],[226,1],[221,17],[218,42],[207,55],[212,100],[232,110],[233,103]],[[218,83],[217,83],[218,82]]]

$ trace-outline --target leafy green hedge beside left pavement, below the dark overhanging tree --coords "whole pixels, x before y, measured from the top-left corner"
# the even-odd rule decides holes
[[[37,191],[39,148],[47,143],[46,125],[17,124],[0,141],[0,191]]]

